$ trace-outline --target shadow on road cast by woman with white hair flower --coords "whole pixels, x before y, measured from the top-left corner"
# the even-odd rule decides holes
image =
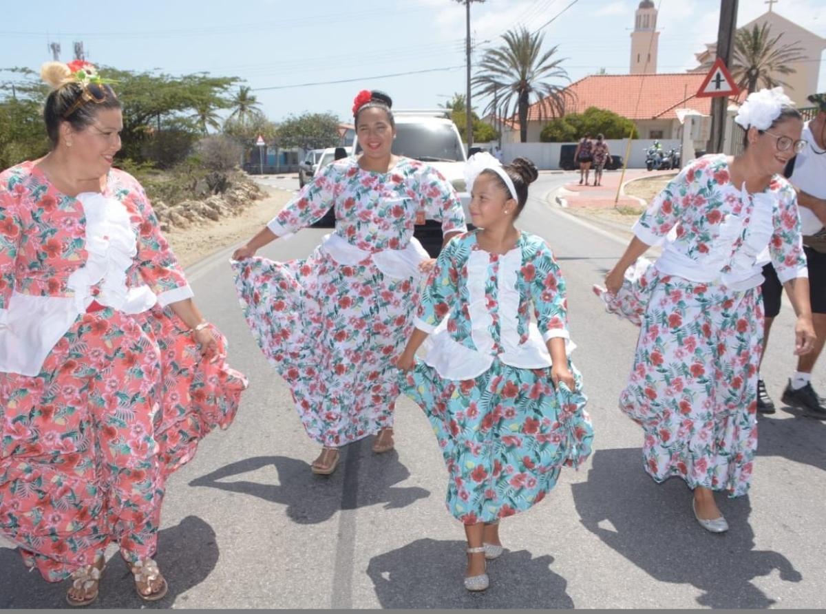
[[[617,472],[626,472],[617,478]],[[752,550],[748,497],[717,497],[731,527],[714,535],[691,512],[691,491],[680,478],[657,484],[643,470],[639,449],[599,450],[588,479],[572,484],[586,528],[658,582],[690,583],[704,592],[698,607],[766,608],[776,601],[752,583],[777,569],[786,582],[800,582],[785,556]]]

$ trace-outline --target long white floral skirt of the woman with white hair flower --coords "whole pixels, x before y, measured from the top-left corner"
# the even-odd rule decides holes
[[[759,288],[644,275],[648,305],[619,408],[643,426],[645,469],[657,482],[748,493],[757,451]]]

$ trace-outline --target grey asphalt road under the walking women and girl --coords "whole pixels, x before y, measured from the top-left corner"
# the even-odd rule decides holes
[[[334,475],[311,474],[318,448],[244,324],[230,249],[188,274],[202,311],[230,339],[230,364],[249,376],[250,388],[230,430],[207,437],[169,482],[157,555],[168,597],[141,602],[110,551],[93,607],[826,606],[826,425],[783,407],[762,417],[752,492],[719,497],[731,530],[712,535],[700,528],[681,480],[657,485],[643,472],[642,432],[616,408],[637,330],[606,314],[591,286],[625,240],[550,204],[561,183],[561,174],[534,183],[520,225],[548,240],[567,280],[573,359],[590,399],[595,452],[579,471],[563,471],[544,502],[503,521],[508,550],[490,564],[486,593],[463,588],[462,527],[444,509],[444,464],[411,401],[398,403],[396,450],[373,455],[365,440],[344,450]],[[301,231],[262,255],[301,257],[324,233]],[[786,306],[763,365],[778,402],[794,368],[792,326]],[[823,373],[821,365],[814,385],[826,392]],[[63,607],[66,583],[28,574],[7,546],[0,541],[0,607]]]

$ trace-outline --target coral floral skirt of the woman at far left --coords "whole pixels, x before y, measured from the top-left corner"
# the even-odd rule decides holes
[[[45,579],[112,542],[154,555],[166,478],[233,420],[246,379],[186,329],[158,307],[86,313],[40,375],[0,374],[0,532]]]

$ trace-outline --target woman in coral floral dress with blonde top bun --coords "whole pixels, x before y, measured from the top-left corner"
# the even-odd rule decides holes
[[[93,66],[45,64],[53,149],[0,174],[0,533],[71,606],[117,543],[149,601],[166,478],[229,426],[225,366],[144,190],[112,169],[121,104]]]

